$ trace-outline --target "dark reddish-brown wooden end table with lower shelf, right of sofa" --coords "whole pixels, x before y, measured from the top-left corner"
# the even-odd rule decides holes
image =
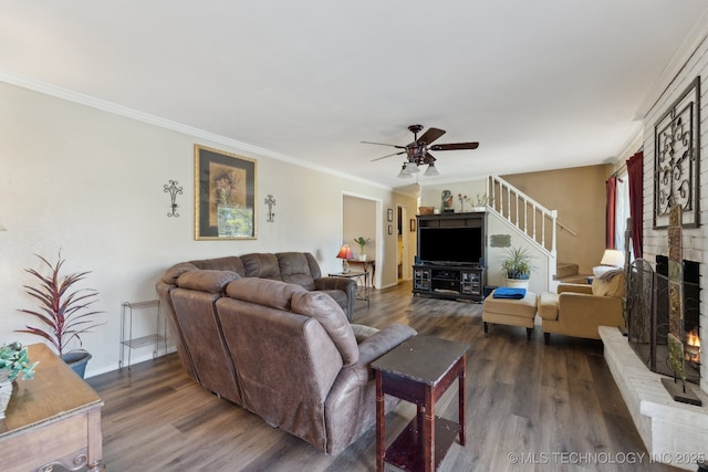
[[[376,370],[376,470],[384,461],[403,470],[433,472],[459,434],[465,444],[466,344],[414,336],[372,363]],[[458,379],[459,421],[435,417],[435,402]],[[386,449],[384,395],[417,406],[417,415]]]

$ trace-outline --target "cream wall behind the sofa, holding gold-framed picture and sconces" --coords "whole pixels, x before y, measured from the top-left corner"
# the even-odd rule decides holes
[[[175,130],[7,83],[0,83],[0,339],[37,343],[14,333],[30,319],[19,308],[35,308],[23,291],[25,268],[41,269],[35,253],[66,258],[67,273],[92,271],[82,287],[96,289],[95,308],[105,324],[84,336],[92,352],[87,375],[117,368],[121,306],[155,300],[155,283],[166,268],[186,260],[247,252],[309,251],[324,273],[336,272],[343,241],[343,196],[377,202],[376,273],[381,286],[397,282],[397,238],[387,233],[386,208],[415,197],[325,174],[258,154],[218,136]],[[195,130],[196,132],[196,130]],[[200,144],[254,158],[257,231],[254,240],[194,240],[194,146]],[[177,180],[179,218],[167,217]],[[275,218],[267,221],[264,199],[272,195]],[[377,285],[378,286],[378,285]],[[149,324],[149,326],[153,326]],[[133,361],[152,358],[152,348],[133,352]]]

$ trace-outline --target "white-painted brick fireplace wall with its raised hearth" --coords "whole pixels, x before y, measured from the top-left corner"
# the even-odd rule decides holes
[[[701,453],[708,457],[708,358],[706,358],[707,348],[705,347],[708,343],[708,291],[706,290],[706,280],[708,280],[708,212],[706,212],[708,209],[708,160],[706,159],[708,157],[706,138],[708,99],[705,92],[702,96],[697,92],[695,95],[686,95],[686,93],[691,91],[691,84],[695,84],[698,77],[702,84],[697,90],[706,90],[708,36],[702,34],[691,43],[690,48],[695,49],[683,51],[680,61],[670,64],[667,75],[662,77],[662,86],[657,87],[656,95],[647,97],[645,107],[639,113],[643,117],[644,156],[642,258],[649,261],[656,271],[656,265],[659,265],[657,256],[669,255],[666,224],[657,221],[657,208],[660,203],[667,203],[668,200],[663,197],[671,195],[670,182],[676,177],[673,174],[665,174],[669,179],[658,180],[662,174],[657,170],[660,169],[657,161],[659,158],[666,158],[663,153],[669,146],[677,151],[673,156],[688,156],[690,159],[686,161],[690,161],[693,166],[688,174],[684,174],[689,176],[686,183],[690,185],[690,192],[678,196],[688,198],[681,201],[681,204],[688,202],[686,208],[693,212],[693,221],[688,221],[689,224],[683,228],[680,238],[683,254],[679,259],[694,261],[698,266],[700,292],[698,333],[704,346],[702,358],[696,366],[698,378],[688,385],[702,400],[702,407],[674,401],[660,381],[667,376],[647,368],[629,346],[627,337],[623,336],[618,329],[601,327],[600,334],[607,365],[649,454],[659,462],[695,471],[697,470],[695,460],[689,463],[679,463],[679,459]],[[660,132],[668,129],[662,125],[681,116],[686,111],[691,113],[689,120],[681,123],[684,126],[676,129],[684,132],[690,128],[691,140],[667,139],[677,135],[662,134]],[[635,149],[627,150],[629,155],[634,151]],[[668,193],[662,195],[657,189],[666,190]]]

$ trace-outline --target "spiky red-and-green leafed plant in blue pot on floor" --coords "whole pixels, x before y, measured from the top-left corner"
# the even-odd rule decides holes
[[[27,293],[40,302],[40,310],[19,310],[21,313],[37,317],[44,326],[25,326],[18,333],[29,333],[40,336],[51,343],[56,353],[82,378],[91,354],[83,349],[66,352],[70,343],[77,342],[81,347],[81,335],[101,325],[93,316],[102,312],[91,311],[90,306],[96,302],[97,292],[92,289],[74,290],[76,283],[85,279],[91,272],[77,272],[60,276],[65,260],[61,251],[56,263],[52,264],[41,255],[37,255],[49,269],[48,275],[42,275],[33,269],[25,269],[39,282],[37,287],[23,285]]]

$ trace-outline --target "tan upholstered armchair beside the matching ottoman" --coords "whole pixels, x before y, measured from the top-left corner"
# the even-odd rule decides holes
[[[595,277],[592,285],[560,284],[558,293],[539,294],[538,310],[545,344],[551,333],[600,339],[600,326],[624,326],[622,300],[626,284],[622,271]]]

